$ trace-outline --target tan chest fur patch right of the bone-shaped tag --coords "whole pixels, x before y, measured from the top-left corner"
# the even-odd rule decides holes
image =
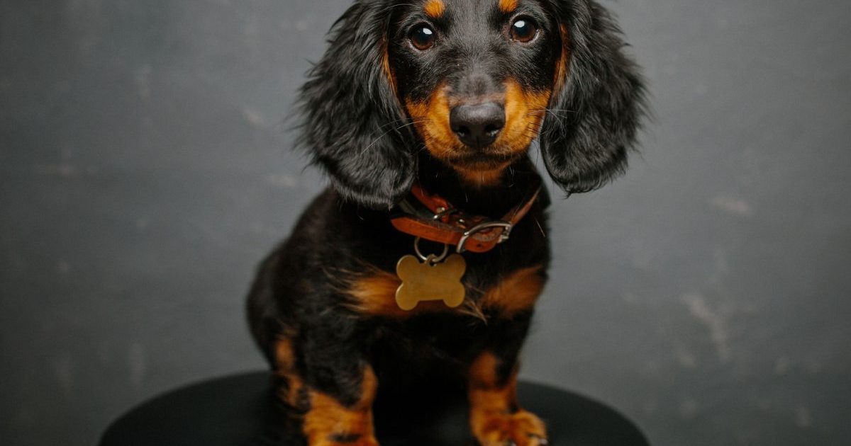
[[[488,290],[481,305],[511,315],[532,308],[543,288],[540,266],[519,269]]]

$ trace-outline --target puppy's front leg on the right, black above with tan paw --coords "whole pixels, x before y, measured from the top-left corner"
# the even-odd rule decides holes
[[[482,446],[539,446],[547,443],[543,421],[517,404],[517,355],[528,322],[500,331],[499,342],[473,361],[468,377],[470,427]],[[511,336],[516,336],[511,338]]]

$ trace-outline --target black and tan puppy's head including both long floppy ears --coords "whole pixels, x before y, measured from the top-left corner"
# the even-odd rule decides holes
[[[593,0],[357,0],[301,91],[303,143],[336,189],[388,207],[425,148],[498,182],[535,138],[568,193],[625,166],[643,112],[637,67]]]

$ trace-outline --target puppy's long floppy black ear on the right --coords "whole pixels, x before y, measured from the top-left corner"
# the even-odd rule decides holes
[[[563,51],[540,149],[558,185],[587,192],[624,171],[645,111],[643,80],[605,8],[593,0],[551,4]]]

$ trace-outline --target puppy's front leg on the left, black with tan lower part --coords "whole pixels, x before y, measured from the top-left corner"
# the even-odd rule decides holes
[[[277,342],[277,394],[295,409],[307,444],[378,446],[372,410],[378,380],[372,367],[352,349],[314,345],[312,352],[296,352],[297,345],[285,337]]]

